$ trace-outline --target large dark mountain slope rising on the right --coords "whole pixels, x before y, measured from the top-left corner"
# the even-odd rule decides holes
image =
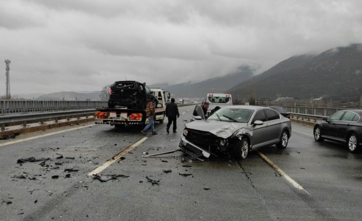
[[[361,82],[362,45],[352,44],[317,55],[290,57],[226,92],[244,99],[324,97],[334,103],[358,102]]]

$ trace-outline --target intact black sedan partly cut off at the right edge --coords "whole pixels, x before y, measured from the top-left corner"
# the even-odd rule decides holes
[[[314,125],[314,139],[324,139],[347,144],[349,151],[356,152],[362,145],[362,110],[341,110],[324,117]]]

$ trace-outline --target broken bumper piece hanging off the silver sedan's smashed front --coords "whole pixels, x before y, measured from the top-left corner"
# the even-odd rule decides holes
[[[183,151],[182,161],[187,161],[190,159],[198,159],[203,160],[199,157],[204,156],[206,158],[210,157],[210,153],[197,145],[191,143],[189,140],[185,138],[184,135],[181,136],[181,141],[179,147]]]

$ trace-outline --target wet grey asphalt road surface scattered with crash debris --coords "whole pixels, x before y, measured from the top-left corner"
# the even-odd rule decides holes
[[[166,134],[166,124],[156,123],[158,135],[148,136],[125,159],[101,172],[129,177],[105,183],[93,180],[88,173],[142,138],[139,128],[88,125],[76,129],[87,125],[74,125],[21,135],[15,140],[60,131],[0,146],[0,220],[361,219],[362,154],[349,153],[333,142],[314,142],[311,128],[293,125],[285,150],[275,146],[260,149],[305,191],[280,176],[258,152],[250,153],[242,162],[181,163],[179,152],[141,157],[143,152],[176,149],[184,119],[190,119],[192,110],[180,108],[183,114],[177,133]],[[65,129],[72,131],[61,132]],[[0,145],[9,141],[13,140],[0,140]],[[56,159],[56,153],[64,157]],[[51,159],[44,166],[39,165],[41,162],[16,163],[18,158],[29,156]],[[55,163],[61,164],[58,169]],[[191,167],[183,167],[186,165]],[[64,172],[67,168],[78,171]],[[163,172],[168,169],[172,172]],[[65,178],[66,174],[70,177]],[[13,177],[20,175],[25,179]],[[51,178],[53,175],[59,177]],[[146,176],[160,180],[159,185],[147,182]]]

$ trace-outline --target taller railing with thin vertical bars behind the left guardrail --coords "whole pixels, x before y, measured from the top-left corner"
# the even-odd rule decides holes
[[[28,101],[0,99],[0,114],[85,110],[107,105],[107,101]]]

